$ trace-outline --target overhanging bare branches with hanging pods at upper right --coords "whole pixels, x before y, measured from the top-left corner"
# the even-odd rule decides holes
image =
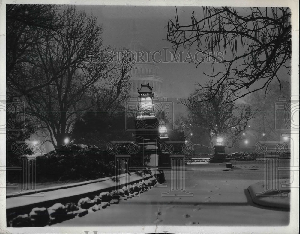
[[[210,98],[223,85],[229,86],[235,95],[232,100],[260,89],[267,94],[274,78],[281,87],[277,77],[280,68],[290,68],[291,10],[287,7],[238,10],[233,7],[203,7],[200,17],[192,13],[189,25],[180,24],[178,15],[175,21],[170,20],[167,40],[176,51],[181,46],[191,48],[196,45],[196,50],[206,58],[224,65],[223,69],[215,72],[213,64],[212,74],[205,74],[217,78],[210,87],[202,87],[212,88],[213,96]],[[222,60],[211,53],[220,50],[224,51]],[[206,61],[203,59],[195,63],[198,66]]]

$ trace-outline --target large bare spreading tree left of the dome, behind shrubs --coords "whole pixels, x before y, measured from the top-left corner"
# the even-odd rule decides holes
[[[109,49],[102,43],[102,28],[94,16],[66,7],[59,20],[64,25],[61,33],[46,32],[44,40],[36,40],[37,57],[27,64],[26,72],[33,83],[43,87],[25,96],[29,106],[26,113],[49,134],[55,148],[64,144],[74,121],[97,103],[102,80],[116,76],[114,69],[118,70],[105,53],[87,60],[86,48]]]

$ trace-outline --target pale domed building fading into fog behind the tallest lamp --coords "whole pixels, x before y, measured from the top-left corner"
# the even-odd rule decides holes
[[[139,32],[136,30],[135,24],[132,30],[131,43],[127,46],[128,50],[134,53],[135,61],[134,69],[131,70],[130,82],[131,97],[138,97],[137,88],[141,84],[149,83],[153,87],[154,95],[163,96],[163,79],[159,76],[159,68],[151,60],[152,53],[141,45],[139,41]]]

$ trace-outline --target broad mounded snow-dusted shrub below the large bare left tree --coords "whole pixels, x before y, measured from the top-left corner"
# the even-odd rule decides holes
[[[113,155],[106,155],[97,146],[63,145],[36,158],[36,174],[49,180],[92,180],[115,175],[114,161]]]

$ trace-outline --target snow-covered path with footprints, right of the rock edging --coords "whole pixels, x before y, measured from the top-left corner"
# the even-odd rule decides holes
[[[171,191],[170,171],[166,184],[118,205],[90,212],[53,226],[116,225],[288,225],[289,212],[253,204],[247,187],[264,179],[264,170],[223,171],[224,165],[187,165],[185,191]],[[281,176],[288,176],[281,175]],[[168,187],[166,187],[168,186]]]

